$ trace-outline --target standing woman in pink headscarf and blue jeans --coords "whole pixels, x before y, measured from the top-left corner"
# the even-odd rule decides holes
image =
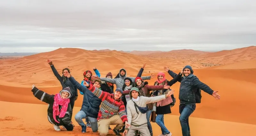
[[[180,73],[183,73],[183,70],[181,70]],[[159,72],[157,74],[157,81],[154,83],[154,86],[162,86],[162,85],[168,85],[172,86],[175,84],[178,79],[181,78],[182,74],[178,74],[174,79],[168,81],[165,78],[165,74],[163,72]],[[161,96],[168,94],[168,92],[171,89],[163,89],[163,90],[156,90],[153,92],[153,96]],[[172,98],[174,98],[173,94],[171,97],[168,97],[167,99],[161,100],[159,102],[153,103],[153,112],[151,117],[155,117],[156,114],[157,116],[154,118],[155,120],[152,120],[153,122],[155,121],[157,125],[160,126],[162,133],[160,136],[171,136],[171,132],[165,127],[164,125],[164,114],[169,114],[171,113],[171,103],[173,102]]]

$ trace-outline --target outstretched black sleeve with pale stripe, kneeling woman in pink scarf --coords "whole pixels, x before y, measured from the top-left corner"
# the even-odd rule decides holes
[[[32,90],[31,92],[33,92],[34,96],[38,99],[41,100],[42,102],[51,104],[54,102],[54,96],[55,95],[50,95],[45,93],[42,90],[39,90],[37,87],[35,87],[34,85],[32,86]]]

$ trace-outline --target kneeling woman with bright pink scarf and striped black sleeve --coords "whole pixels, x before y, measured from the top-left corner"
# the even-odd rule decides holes
[[[50,95],[44,91],[39,90],[37,87],[32,85],[34,96],[42,102],[48,103],[47,117],[51,124],[54,124],[56,131],[61,131],[60,127],[63,125],[67,131],[73,130],[73,125],[70,119],[71,106],[70,97],[72,96],[70,88],[66,87],[55,95]]]

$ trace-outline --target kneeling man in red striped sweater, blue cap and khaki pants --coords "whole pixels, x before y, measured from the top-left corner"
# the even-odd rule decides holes
[[[100,111],[98,113],[98,132],[101,136],[108,134],[108,126],[116,125],[113,132],[117,136],[121,136],[119,130],[125,125],[128,127],[127,115],[125,112],[124,103],[121,101],[123,93],[122,88],[117,88],[114,94],[103,92],[101,89],[89,85],[84,82],[86,86],[93,94],[102,100]]]

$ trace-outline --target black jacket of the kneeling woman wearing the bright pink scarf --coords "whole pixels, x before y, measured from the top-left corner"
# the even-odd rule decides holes
[[[68,91],[67,89],[63,89],[65,90],[65,92],[68,92],[69,95],[67,97],[70,98],[72,97],[72,93],[70,91]],[[34,96],[38,99],[38,100],[41,100],[42,102],[45,102],[45,103],[48,103],[48,109],[47,109],[47,117],[48,117],[48,121],[51,123],[51,124],[59,124],[57,123],[54,118],[53,118],[53,103],[54,103],[54,96],[55,95],[50,95],[50,94],[47,94],[45,93],[44,91],[41,91],[39,90],[37,87],[34,87],[31,92],[33,92]],[[62,90],[60,91],[60,93],[62,92]],[[59,105],[59,110],[61,111],[61,108],[62,106]],[[72,112],[71,110],[71,106],[70,106],[70,103],[69,103],[69,106],[68,106],[68,109],[66,111],[66,114],[64,117],[59,117],[59,116],[56,116],[56,119],[60,122],[59,125],[70,125],[71,123],[71,119],[70,119],[70,113]]]

